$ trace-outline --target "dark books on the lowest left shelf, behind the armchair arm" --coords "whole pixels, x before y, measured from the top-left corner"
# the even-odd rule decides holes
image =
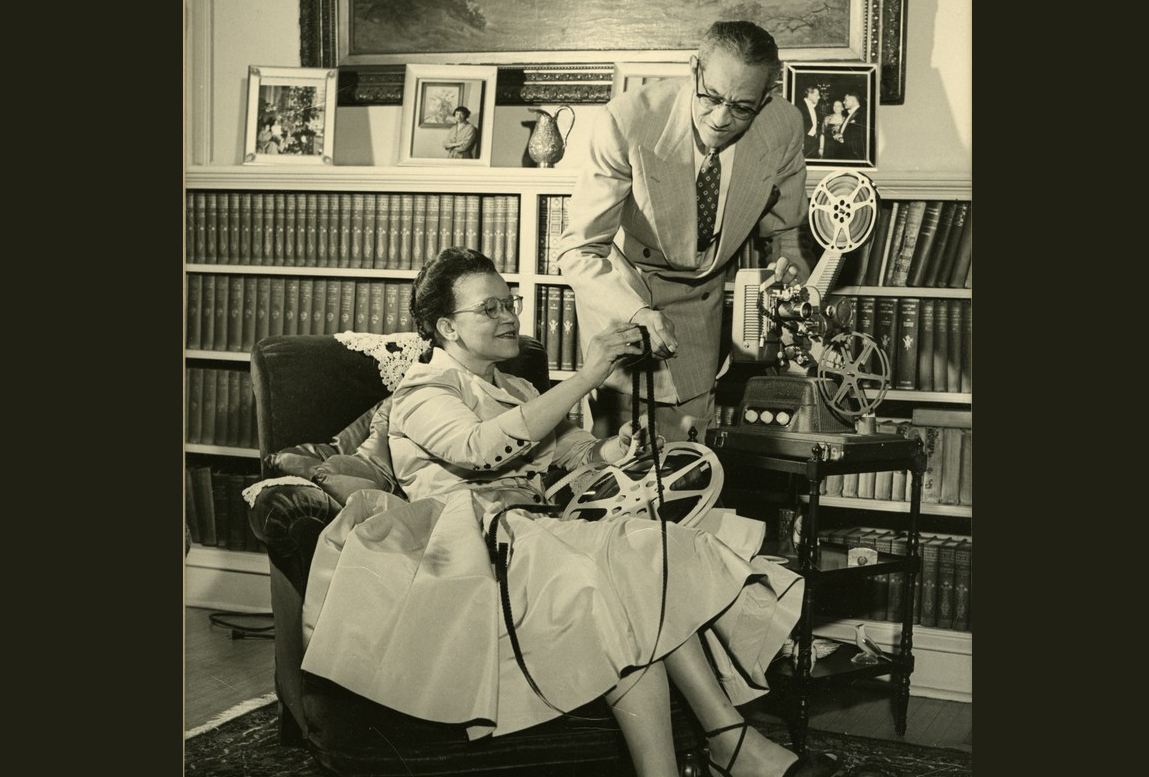
[[[192,541],[228,551],[265,551],[252,529],[252,508],[244,488],[259,475],[241,475],[207,466],[184,469],[184,506]]]

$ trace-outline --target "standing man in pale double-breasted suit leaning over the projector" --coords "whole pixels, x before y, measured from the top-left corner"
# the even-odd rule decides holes
[[[784,280],[809,276],[796,230],[807,217],[802,113],[772,95],[780,72],[769,32],[716,22],[685,84],[656,82],[607,103],[570,202],[558,267],[574,290],[583,349],[610,323],[647,328],[666,440],[704,440],[714,423],[726,264],[747,236],[777,234],[793,262],[779,262]],[[631,417],[631,369],[591,397],[596,434]]]

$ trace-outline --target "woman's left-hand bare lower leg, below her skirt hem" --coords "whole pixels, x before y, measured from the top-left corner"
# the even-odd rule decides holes
[[[606,695],[638,777],[677,777],[670,687],[662,662],[631,672]]]

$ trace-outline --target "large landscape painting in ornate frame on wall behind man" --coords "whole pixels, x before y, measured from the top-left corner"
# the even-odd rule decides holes
[[[905,0],[774,0],[769,5],[740,0],[300,0],[300,54],[304,66],[340,69],[341,105],[345,91],[369,78],[388,83],[391,94],[398,97],[402,76],[385,71],[402,70],[409,63],[496,64],[500,71],[516,70],[516,66],[604,63],[606,84],[595,93],[606,101],[612,91],[609,70],[615,63],[685,62],[716,20],[748,18],[774,36],[785,61],[878,62],[880,55],[885,78],[887,70],[893,75],[904,74],[900,67],[904,3]],[[884,37],[886,25],[899,32]],[[363,78],[358,78],[361,75]],[[554,79],[570,80],[562,76]],[[894,87],[902,89],[901,83]],[[370,100],[362,99],[352,102],[370,105]]]

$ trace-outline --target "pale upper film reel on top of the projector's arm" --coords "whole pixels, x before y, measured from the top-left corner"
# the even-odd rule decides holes
[[[809,216],[818,245],[826,251],[854,251],[878,221],[878,190],[861,172],[831,172],[810,195]]]

